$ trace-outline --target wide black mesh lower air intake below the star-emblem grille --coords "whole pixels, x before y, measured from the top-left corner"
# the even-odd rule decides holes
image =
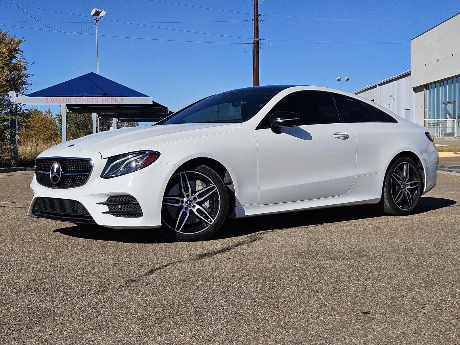
[[[95,223],[88,210],[76,200],[38,197],[32,214],[40,218],[74,223]]]

